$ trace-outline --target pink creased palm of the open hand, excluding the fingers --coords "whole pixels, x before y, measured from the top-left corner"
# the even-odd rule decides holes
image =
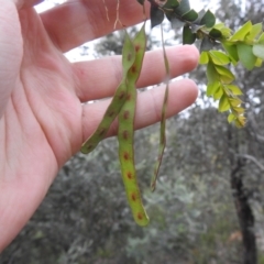
[[[19,28],[16,20],[12,22],[11,26]],[[13,58],[9,67],[16,69],[15,85],[0,120],[4,131],[0,155],[1,164],[6,164],[0,168],[0,208],[14,233],[21,228],[18,224],[24,224],[15,219],[31,216],[58,168],[82,142],[82,110],[69,63],[53,45],[33,10],[21,12],[21,28],[23,51],[19,31],[13,33],[18,46],[9,45]],[[8,205],[4,197],[10,197]],[[33,205],[26,208],[30,200]],[[16,211],[18,205],[23,211]]]

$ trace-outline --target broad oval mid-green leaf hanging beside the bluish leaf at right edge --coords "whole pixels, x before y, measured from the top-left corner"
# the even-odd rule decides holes
[[[254,68],[256,63],[256,56],[253,54],[253,47],[244,43],[238,44],[238,54],[242,65],[251,70]]]

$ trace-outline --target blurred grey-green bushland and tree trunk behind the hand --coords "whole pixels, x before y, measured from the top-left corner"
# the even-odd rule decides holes
[[[241,7],[240,1],[221,0],[217,16],[231,29],[248,20],[263,22],[263,0],[248,2],[244,12]],[[178,38],[167,44],[175,42]],[[96,50],[101,55],[120,53],[121,45],[122,34],[114,33]],[[156,40],[148,45],[156,46]],[[168,143],[155,193],[150,191],[150,178],[158,129],[136,132],[139,178],[151,217],[147,228],[132,219],[117,141],[108,139],[62,168],[0,263],[263,264],[264,68],[239,67],[235,76],[248,108],[246,128],[228,124],[205,97],[205,69],[199,67],[191,74],[200,87],[199,100],[167,123]]]

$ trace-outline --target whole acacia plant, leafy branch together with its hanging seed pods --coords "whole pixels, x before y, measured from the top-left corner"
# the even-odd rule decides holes
[[[117,0],[118,14],[116,23],[122,23],[119,20],[119,1]],[[145,0],[136,1],[139,4],[142,4],[142,12],[145,16]],[[230,66],[237,66],[241,63],[249,70],[262,66],[262,61],[264,59],[262,23],[252,24],[251,21],[248,21],[233,33],[224,23],[217,23],[216,16],[210,10],[196,12],[190,8],[188,0],[147,1],[151,3],[150,18],[152,28],[162,24],[166,18],[173,26],[180,25],[183,28],[183,44],[193,44],[197,40],[200,41],[200,64],[207,65],[207,96],[219,101],[218,109],[220,112],[229,112],[228,122],[234,123],[238,128],[243,128],[245,125],[245,109],[240,99],[242,91],[234,84],[235,76],[230,70]],[[105,2],[103,4],[106,6]],[[148,218],[142,204],[136,180],[133,134],[136,102],[135,82],[141,73],[145,51],[146,34],[144,23],[134,37],[129,36],[125,32],[122,51],[122,80],[97,130],[87,139],[81,147],[82,153],[90,153],[106,138],[113,120],[118,119],[119,160],[122,179],[132,215],[135,222],[140,226],[146,226]],[[155,189],[158,168],[166,144],[165,117],[167,98],[169,96],[169,65],[164,44],[163,54],[167,78],[165,80],[166,90],[162,109],[158,157],[151,183],[152,190]]]

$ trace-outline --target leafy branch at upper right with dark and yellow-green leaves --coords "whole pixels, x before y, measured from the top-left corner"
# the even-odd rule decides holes
[[[142,0],[138,0],[141,4]],[[183,26],[183,43],[193,44],[201,40],[200,64],[207,65],[207,96],[219,100],[219,111],[229,111],[229,123],[238,128],[245,124],[244,108],[239,96],[241,89],[232,84],[235,76],[227,67],[239,62],[249,70],[262,66],[264,59],[264,33],[262,23],[252,25],[248,21],[235,33],[224,25],[216,23],[215,14],[208,10],[196,12],[188,0],[148,0],[151,2],[152,28],[161,24],[166,16],[173,26]],[[223,51],[213,51],[219,45]]]

